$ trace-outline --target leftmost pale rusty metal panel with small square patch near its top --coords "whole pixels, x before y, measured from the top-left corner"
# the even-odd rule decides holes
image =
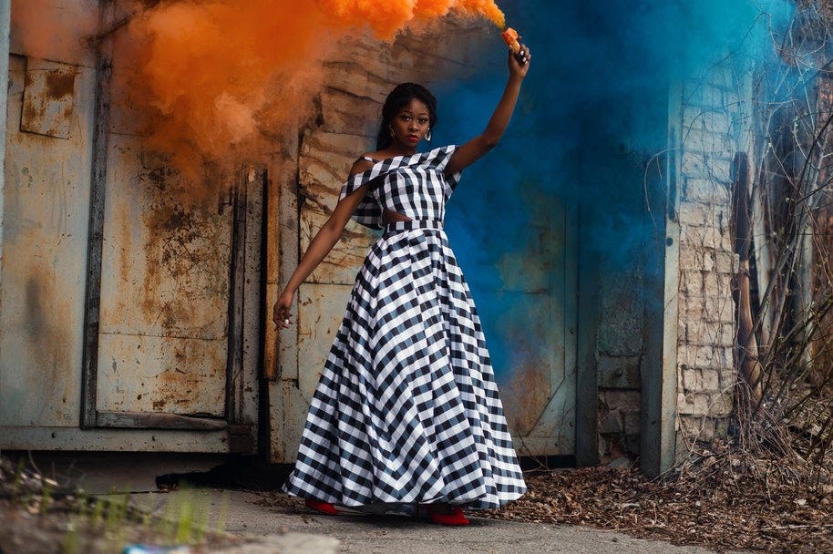
[[[0,282],[0,434],[77,426],[94,71],[13,55]]]

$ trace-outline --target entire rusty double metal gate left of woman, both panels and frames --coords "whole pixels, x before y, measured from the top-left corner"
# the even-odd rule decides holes
[[[9,39],[3,446],[253,453],[265,173],[180,175],[111,101],[129,3],[47,4],[49,28],[104,31]]]

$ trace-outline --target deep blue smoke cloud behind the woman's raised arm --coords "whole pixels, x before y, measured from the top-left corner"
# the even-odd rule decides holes
[[[551,258],[560,251],[547,244],[562,240],[558,214],[581,212],[580,248],[602,274],[639,264],[654,225],[644,216],[643,178],[666,148],[670,83],[727,56],[742,67],[771,59],[772,33],[792,13],[782,0],[504,4],[509,26],[530,45],[530,75],[504,139],[466,171],[447,210],[499,380],[551,349],[542,335],[540,353],[518,352],[519,336],[529,345],[538,332],[525,325],[548,328],[530,299],[559,283],[548,275],[562,271]],[[506,82],[505,56],[496,30],[475,76],[438,87],[438,141],[463,142],[486,124]]]

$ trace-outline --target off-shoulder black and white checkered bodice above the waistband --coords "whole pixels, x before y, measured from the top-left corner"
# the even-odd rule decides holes
[[[446,146],[375,161],[370,169],[345,182],[339,200],[365,184],[370,185],[353,217],[372,229],[382,229],[383,208],[415,221],[443,221],[446,200],[460,178],[460,173],[445,175],[455,149]]]

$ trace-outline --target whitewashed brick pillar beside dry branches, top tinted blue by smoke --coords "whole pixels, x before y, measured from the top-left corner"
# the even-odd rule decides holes
[[[735,153],[746,149],[743,90],[742,77],[728,65],[683,87],[677,432],[687,440],[725,436],[732,411],[737,258],[730,170]]]

